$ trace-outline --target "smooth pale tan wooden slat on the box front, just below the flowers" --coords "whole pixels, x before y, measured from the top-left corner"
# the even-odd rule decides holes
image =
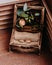
[[[19,35],[18,35],[19,34]],[[39,40],[40,33],[28,33],[28,32],[18,32],[14,31],[14,38],[15,39],[32,39],[32,40]]]

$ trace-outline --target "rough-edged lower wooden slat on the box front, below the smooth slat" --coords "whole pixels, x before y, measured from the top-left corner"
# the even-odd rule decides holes
[[[30,43],[24,41],[24,42],[20,42],[19,40],[13,40],[13,42],[11,41],[10,45],[14,45],[14,46],[23,46],[23,47],[31,47],[31,46],[39,46],[39,41],[31,41]]]

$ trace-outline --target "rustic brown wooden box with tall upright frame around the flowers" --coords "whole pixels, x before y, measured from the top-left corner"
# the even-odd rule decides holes
[[[35,49],[39,49],[39,52],[41,50],[41,41],[42,41],[42,30],[44,25],[44,11],[45,8],[43,6],[28,6],[31,9],[34,10],[40,10],[41,11],[41,18],[40,18],[40,31],[37,33],[29,33],[26,31],[19,32],[16,30],[16,19],[17,19],[17,10],[18,7],[22,7],[23,4],[15,4],[14,6],[14,22],[13,22],[13,30],[11,35],[11,40],[9,44],[9,50],[11,49],[17,49],[19,51],[24,52],[32,52]]]

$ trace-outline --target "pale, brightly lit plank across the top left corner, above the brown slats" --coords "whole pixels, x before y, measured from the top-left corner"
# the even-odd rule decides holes
[[[16,3],[24,3],[29,1],[32,1],[32,0],[1,0],[0,6],[16,4]],[[39,0],[36,0],[36,1],[38,2]]]

